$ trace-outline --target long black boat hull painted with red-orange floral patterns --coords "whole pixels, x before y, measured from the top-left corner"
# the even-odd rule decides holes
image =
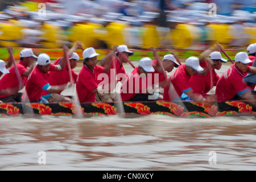
[[[118,106],[122,106],[122,109]],[[78,107],[77,107],[78,106]],[[221,103],[196,102],[196,101],[144,101],[144,102],[93,102],[82,103],[2,103],[0,104],[0,116],[19,116],[31,110],[35,115],[77,115],[80,111],[82,117],[96,115],[149,115],[160,114],[171,117],[221,117],[230,115],[254,115],[256,108],[246,101],[226,101]]]

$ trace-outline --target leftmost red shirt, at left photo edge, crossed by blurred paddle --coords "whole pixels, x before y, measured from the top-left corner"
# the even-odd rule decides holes
[[[27,67],[24,65],[23,61],[16,64],[19,70],[19,74],[22,77],[23,85],[26,85],[27,76],[22,76],[22,74],[27,71]],[[14,65],[9,70],[10,73],[6,73],[0,80],[1,89],[17,88],[19,86],[18,78],[16,76]],[[0,95],[0,97],[7,97],[10,95]]]

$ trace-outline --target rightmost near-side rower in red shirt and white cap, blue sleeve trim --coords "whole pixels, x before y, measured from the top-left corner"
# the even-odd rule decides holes
[[[249,67],[251,63],[246,52],[238,52],[235,56],[235,64],[223,73],[216,86],[216,98],[218,102],[229,100],[251,100],[255,105],[255,96],[249,86],[242,81],[248,72],[256,73],[255,67]]]

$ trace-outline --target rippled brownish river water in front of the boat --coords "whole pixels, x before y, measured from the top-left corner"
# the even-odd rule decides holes
[[[0,125],[0,169],[256,169],[254,117],[6,117]]]

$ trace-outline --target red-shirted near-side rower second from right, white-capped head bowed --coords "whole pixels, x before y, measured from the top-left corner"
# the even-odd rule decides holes
[[[185,64],[180,65],[174,74],[172,74],[168,79],[170,84],[166,85],[164,88],[163,100],[177,100],[180,99],[183,93],[185,93],[193,100],[203,101],[204,98],[201,95],[194,93],[191,85],[189,84],[191,76],[200,71],[203,71],[203,68],[200,67],[199,59],[194,56],[189,57],[185,61]]]

